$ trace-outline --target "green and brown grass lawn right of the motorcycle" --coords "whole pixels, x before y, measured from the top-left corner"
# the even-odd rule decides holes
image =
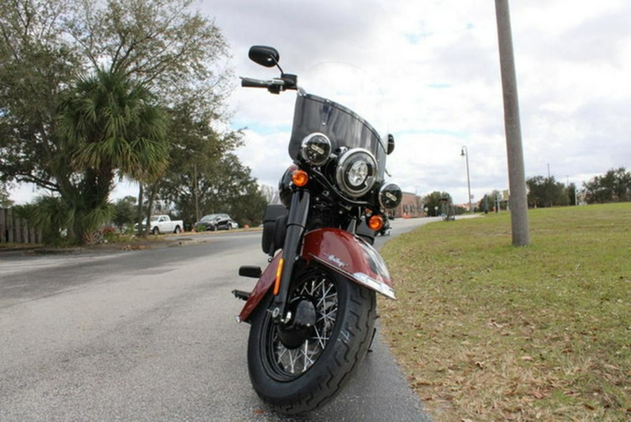
[[[631,420],[631,203],[428,224],[381,253],[382,332],[436,421]]]

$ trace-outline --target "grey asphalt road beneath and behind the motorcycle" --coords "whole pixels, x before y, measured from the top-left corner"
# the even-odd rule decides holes
[[[395,220],[392,236],[427,221]],[[247,375],[249,325],[234,320],[243,301],[231,295],[255,283],[238,266],[266,264],[260,236],[0,253],[0,420],[429,421],[379,336],[323,409],[304,418],[266,409]]]

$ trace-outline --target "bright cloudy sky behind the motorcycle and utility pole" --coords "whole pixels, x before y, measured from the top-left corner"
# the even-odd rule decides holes
[[[512,0],[510,19],[526,177],[583,182],[631,169],[631,2]],[[389,182],[466,203],[508,189],[495,2],[491,0],[199,0],[222,30],[235,74],[231,127],[244,128],[241,161],[277,186],[294,91],[240,88],[268,79],[247,58],[274,46],[308,93],[357,111],[395,137]],[[118,186],[115,196],[131,193]],[[12,197],[14,200],[15,197]]]

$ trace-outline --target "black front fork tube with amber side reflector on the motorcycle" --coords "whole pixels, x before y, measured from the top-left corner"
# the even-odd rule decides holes
[[[285,315],[287,306],[287,294],[289,292],[294,264],[299,257],[304,227],[309,211],[311,194],[304,189],[297,189],[292,193],[292,204],[287,216],[287,231],[285,232],[285,246],[283,258],[276,271],[276,283],[274,283],[274,301],[272,306],[272,318],[279,322],[290,322],[291,313]]]

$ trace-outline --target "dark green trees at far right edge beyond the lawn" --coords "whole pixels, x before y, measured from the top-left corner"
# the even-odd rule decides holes
[[[583,183],[588,203],[625,202],[631,200],[631,172],[624,167]]]

